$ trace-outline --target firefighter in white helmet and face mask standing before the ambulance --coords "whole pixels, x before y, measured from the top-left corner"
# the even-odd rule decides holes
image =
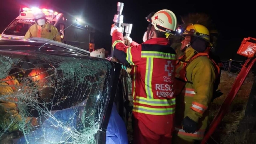
[[[42,37],[61,42],[58,29],[48,22],[43,12],[40,11],[34,14],[34,18],[35,24],[28,29],[28,32],[24,36],[25,39],[30,37]]]

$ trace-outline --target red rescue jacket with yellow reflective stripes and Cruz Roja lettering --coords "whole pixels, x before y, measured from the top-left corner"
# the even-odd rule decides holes
[[[176,53],[166,38],[153,38],[134,46],[126,46],[123,41],[122,33],[113,33],[113,49],[124,51],[126,60],[134,65],[133,115],[156,134],[168,134],[174,130]]]

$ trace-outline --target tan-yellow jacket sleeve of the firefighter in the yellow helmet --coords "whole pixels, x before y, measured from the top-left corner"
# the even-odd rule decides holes
[[[207,57],[198,57],[194,60],[198,61],[198,64],[192,70],[192,83],[196,95],[193,97],[192,106],[187,116],[198,122],[212,99],[215,69],[212,61]]]

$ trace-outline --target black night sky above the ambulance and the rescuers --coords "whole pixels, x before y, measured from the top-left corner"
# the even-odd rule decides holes
[[[254,4],[224,0],[0,0],[0,31],[18,16],[20,7],[44,6],[57,12],[82,16],[96,28],[95,47],[110,49],[110,28],[117,2],[124,2],[124,22],[133,24],[130,36],[138,43],[142,43],[148,25],[145,17],[161,9],[173,11],[178,19],[190,12],[209,14],[220,32],[217,52],[222,60],[244,60],[236,54],[242,39],[256,37]]]

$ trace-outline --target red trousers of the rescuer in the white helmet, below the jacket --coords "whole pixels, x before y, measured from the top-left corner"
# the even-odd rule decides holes
[[[133,144],[172,144],[172,132],[158,135],[134,117],[132,118],[132,129]]]

